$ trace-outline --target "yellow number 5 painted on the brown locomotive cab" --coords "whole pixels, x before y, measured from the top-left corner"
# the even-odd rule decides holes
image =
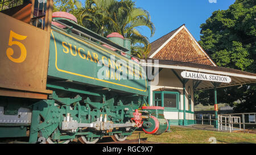
[[[18,58],[13,58],[12,55],[14,53],[13,51],[13,48],[7,48],[6,50],[6,55],[7,57],[13,61],[13,62],[16,62],[16,63],[21,63],[23,62],[26,57],[27,57],[27,49],[26,47],[20,43],[19,41],[13,41],[13,38],[17,39],[17,40],[24,40],[27,38],[27,36],[22,36],[22,35],[19,35],[13,31],[10,31],[10,37],[9,37],[9,46],[12,46],[12,45],[18,45],[18,47],[20,48],[20,56]]]

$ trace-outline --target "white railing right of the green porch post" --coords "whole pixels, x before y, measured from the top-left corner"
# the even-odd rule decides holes
[[[227,124],[229,126],[229,132],[233,131],[233,124],[239,124],[240,130],[241,125],[243,125],[243,131],[245,131],[246,124],[256,124],[255,116],[255,112],[239,114],[220,114],[218,115],[218,131],[223,131],[223,124],[225,124],[225,131],[227,131]]]

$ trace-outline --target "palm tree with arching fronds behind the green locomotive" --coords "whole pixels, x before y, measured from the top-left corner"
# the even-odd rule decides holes
[[[131,0],[86,0],[85,7],[80,7],[76,16],[82,26],[102,36],[118,32],[131,39],[131,53],[139,58],[145,58],[150,51],[149,40],[138,27],[150,28],[153,36],[155,26],[148,11],[136,7]]]

